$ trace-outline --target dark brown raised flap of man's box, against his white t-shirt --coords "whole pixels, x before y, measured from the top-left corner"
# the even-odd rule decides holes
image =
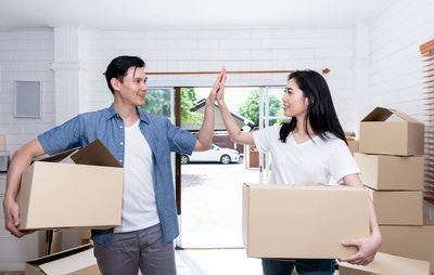
[[[122,167],[99,139],[86,145],[71,158],[77,165]]]

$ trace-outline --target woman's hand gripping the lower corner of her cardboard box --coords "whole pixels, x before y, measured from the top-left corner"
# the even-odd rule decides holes
[[[343,241],[342,245],[344,247],[356,247],[358,251],[350,257],[340,259],[341,261],[352,264],[367,265],[373,261],[375,253],[381,246],[381,236],[371,235],[357,240]]]

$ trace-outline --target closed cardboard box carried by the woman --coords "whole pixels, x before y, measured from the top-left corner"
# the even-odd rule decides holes
[[[244,184],[243,241],[253,258],[343,258],[369,236],[368,192],[346,186]]]

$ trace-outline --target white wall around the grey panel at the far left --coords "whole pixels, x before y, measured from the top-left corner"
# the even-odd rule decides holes
[[[7,148],[18,146],[54,126],[54,82],[50,70],[53,60],[52,29],[0,31],[0,133],[7,134]],[[14,118],[14,81],[42,82],[41,118]],[[0,174],[0,200],[3,200],[5,174]],[[43,233],[16,239],[4,230],[0,212],[0,271],[23,270],[23,261],[40,256]]]

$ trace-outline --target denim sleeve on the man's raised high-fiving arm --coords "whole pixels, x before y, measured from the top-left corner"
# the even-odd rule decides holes
[[[170,150],[179,154],[191,155],[196,145],[197,136],[174,126],[168,119],[166,119],[166,128]]]

